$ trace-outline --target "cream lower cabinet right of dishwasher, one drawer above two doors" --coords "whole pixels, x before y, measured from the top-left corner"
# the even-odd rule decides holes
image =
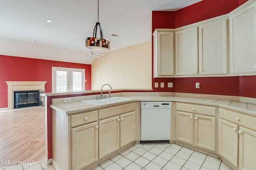
[[[176,140],[216,152],[215,107],[177,103],[176,110]]]

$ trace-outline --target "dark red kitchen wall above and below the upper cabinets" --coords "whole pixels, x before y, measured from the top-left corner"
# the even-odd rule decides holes
[[[247,1],[203,0],[175,12],[152,11],[152,33],[156,28],[178,28],[228,14]],[[153,48],[152,54],[154,54]],[[159,83],[158,88],[154,88],[155,82]],[[160,82],[164,82],[164,88],[160,88]],[[173,82],[174,87],[168,88],[168,82]],[[199,89],[195,88],[196,82],[200,83]],[[256,76],[153,78],[152,88],[154,92],[184,92],[256,98]]]

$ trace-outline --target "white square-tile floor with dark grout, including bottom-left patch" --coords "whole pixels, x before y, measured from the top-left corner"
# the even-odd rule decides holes
[[[44,162],[0,170],[55,170]],[[135,144],[90,170],[232,170],[222,160],[176,144]]]

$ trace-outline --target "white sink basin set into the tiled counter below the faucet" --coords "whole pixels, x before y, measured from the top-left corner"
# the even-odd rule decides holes
[[[92,100],[82,100],[81,102],[93,104],[96,106],[104,105],[104,104],[112,104],[112,103],[118,103],[118,102],[125,102],[132,100],[130,98],[121,98],[121,97],[111,97],[111,98],[104,98],[104,99],[92,99]]]

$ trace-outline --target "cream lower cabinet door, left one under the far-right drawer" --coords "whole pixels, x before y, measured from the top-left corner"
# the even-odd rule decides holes
[[[219,154],[238,166],[238,125],[219,119]]]

